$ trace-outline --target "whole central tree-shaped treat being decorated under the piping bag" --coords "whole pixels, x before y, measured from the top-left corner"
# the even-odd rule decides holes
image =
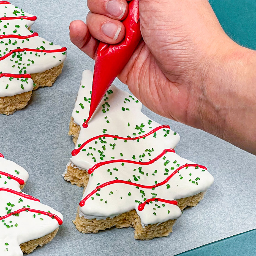
[[[137,239],[169,235],[181,210],[197,205],[213,176],[179,157],[173,149],[179,135],[141,113],[138,99],[114,85],[83,128],[91,88],[92,73],[85,70],[70,122],[76,147],[63,174],[85,187],[77,229],[134,227]]]

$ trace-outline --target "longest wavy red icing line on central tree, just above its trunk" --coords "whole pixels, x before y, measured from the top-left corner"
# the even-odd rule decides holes
[[[83,200],[80,201],[79,205],[82,207],[85,205],[85,201],[90,198],[93,194],[95,194],[99,189],[102,189],[103,187],[106,187],[108,185],[111,185],[111,184],[115,184],[115,183],[123,183],[123,184],[128,184],[128,185],[132,185],[132,186],[137,186],[137,187],[142,187],[144,189],[152,189],[152,188],[155,188],[155,187],[159,187],[159,186],[162,186],[164,185],[165,183],[167,183],[176,173],[178,173],[179,170],[185,168],[185,167],[199,167],[199,168],[202,168],[204,170],[207,170],[207,168],[203,165],[198,165],[198,164],[184,164],[184,165],[181,165],[179,168],[177,168],[171,175],[169,175],[164,181],[160,182],[160,183],[157,183],[157,184],[154,184],[153,186],[146,186],[146,185],[142,185],[142,184],[137,184],[137,183],[134,183],[134,182],[131,182],[131,181],[123,181],[123,180],[119,180],[119,179],[116,179],[116,180],[113,180],[113,181],[108,181],[106,183],[103,183],[99,186],[96,187],[96,189],[94,189],[90,194],[88,194]]]

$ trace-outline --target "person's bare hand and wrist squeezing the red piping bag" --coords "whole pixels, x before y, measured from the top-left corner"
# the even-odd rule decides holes
[[[88,0],[86,23],[70,23],[70,40],[93,59],[99,40],[124,37],[128,3],[112,1]],[[225,34],[207,0],[140,0],[139,9],[143,40],[118,78],[155,113],[256,154],[255,51]]]

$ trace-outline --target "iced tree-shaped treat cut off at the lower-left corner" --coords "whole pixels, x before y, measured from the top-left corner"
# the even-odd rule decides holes
[[[22,256],[50,242],[63,216],[21,191],[28,172],[0,153],[0,255]]]

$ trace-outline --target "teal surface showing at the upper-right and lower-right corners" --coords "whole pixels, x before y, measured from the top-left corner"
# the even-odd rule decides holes
[[[240,45],[256,49],[256,1],[210,0],[222,28]],[[256,255],[256,230],[222,239],[178,254],[179,256]],[[177,255],[177,256],[178,256]]]

